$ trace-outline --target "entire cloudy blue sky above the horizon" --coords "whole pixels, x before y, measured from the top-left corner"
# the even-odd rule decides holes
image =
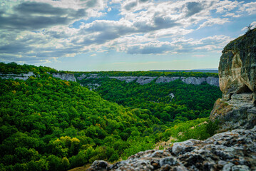
[[[217,68],[256,1],[1,0],[0,62],[63,71]]]

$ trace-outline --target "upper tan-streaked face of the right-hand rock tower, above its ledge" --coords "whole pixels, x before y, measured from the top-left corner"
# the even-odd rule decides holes
[[[256,29],[225,46],[220,57],[220,90],[223,100],[233,93],[252,93],[255,100]]]

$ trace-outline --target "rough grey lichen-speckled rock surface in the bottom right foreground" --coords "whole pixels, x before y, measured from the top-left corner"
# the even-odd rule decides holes
[[[113,165],[96,160],[88,171],[105,170],[256,170],[256,126],[207,140],[175,142],[168,150],[147,150]]]

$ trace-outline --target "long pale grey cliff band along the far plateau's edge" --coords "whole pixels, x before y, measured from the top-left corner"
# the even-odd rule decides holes
[[[103,78],[102,76],[98,76],[98,74],[82,74],[81,76],[78,76],[78,80],[83,79],[97,79],[97,78]],[[130,83],[131,81],[136,81],[136,83],[139,83],[140,85],[150,83],[151,81],[155,80],[155,83],[169,83],[171,81],[175,81],[180,79],[184,83],[187,84],[194,84],[194,85],[200,85],[201,83],[208,83],[212,86],[219,86],[219,78],[215,77],[207,77],[207,78],[199,78],[199,77],[150,77],[150,76],[109,76],[109,78],[117,79],[120,81],[126,81],[126,83]]]

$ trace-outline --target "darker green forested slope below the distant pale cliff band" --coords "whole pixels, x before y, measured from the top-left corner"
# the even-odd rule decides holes
[[[142,108],[161,122],[174,120],[193,120],[205,118],[210,114],[213,104],[222,93],[220,88],[209,84],[192,85],[180,80],[170,83],[151,83],[140,85],[135,81],[126,83],[111,78],[86,79],[83,85],[98,83],[96,88],[104,99],[129,108]],[[172,97],[174,95],[174,97]],[[141,116],[146,119],[148,116]]]

